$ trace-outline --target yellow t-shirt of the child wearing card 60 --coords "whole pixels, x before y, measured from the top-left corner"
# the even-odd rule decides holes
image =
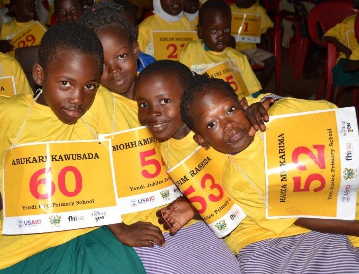
[[[30,104],[32,95],[0,96],[0,173],[5,150],[10,147],[18,134]],[[82,121],[78,121],[82,123]],[[58,120],[52,110],[35,103],[17,144],[69,140],[74,125]],[[88,130],[87,130],[88,131]],[[2,194],[2,175],[0,177]],[[47,248],[61,245],[97,227],[29,235],[2,235],[3,212],[0,214],[0,269],[9,267]]]

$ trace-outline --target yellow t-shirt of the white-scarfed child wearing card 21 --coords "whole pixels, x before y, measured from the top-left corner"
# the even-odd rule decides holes
[[[146,18],[138,26],[138,44],[140,50],[148,55],[154,57],[153,43],[151,39],[152,30],[173,30],[173,31],[191,31],[191,23],[187,17],[182,16],[179,21],[167,22],[163,20],[159,15],[154,14]]]

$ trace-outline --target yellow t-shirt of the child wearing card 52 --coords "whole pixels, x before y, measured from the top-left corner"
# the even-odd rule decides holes
[[[283,98],[268,110],[268,114],[280,115],[333,108],[336,106],[327,101]],[[253,142],[244,151],[230,155],[230,157],[243,173],[253,181],[262,197],[265,198],[264,142],[258,134],[255,135]],[[226,243],[235,254],[254,242],[309,231],[294,225],[296,218],[266,219],[265,206],[260,195],[230,160],[227,161],[223,170],[221,182],[228,195],[247,214],[247,217],[238,227],[225,238]]]

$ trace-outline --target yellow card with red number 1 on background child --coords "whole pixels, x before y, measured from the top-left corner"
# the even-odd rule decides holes
[[[233,12],[231,35],[237,42],[260,43],[261,22],[260,15]]]

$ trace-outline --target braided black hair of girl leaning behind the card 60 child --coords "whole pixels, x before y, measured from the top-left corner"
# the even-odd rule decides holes
[[[91,28],[96,33],[108,29],[121,30],[127,36],[128,41],[133,43],[137,41],[135,27],[122,12],[123,8],[120,5],[107,0],[100,0],[87,9],[77,22]]]

